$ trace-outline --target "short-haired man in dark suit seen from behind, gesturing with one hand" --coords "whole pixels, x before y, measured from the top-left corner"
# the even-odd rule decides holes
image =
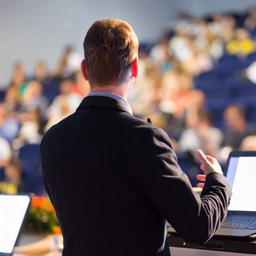
[[[198,150],[206,175],[200,198],[167,134],[132,115],[125,99],[137,77],[138,39],[131,26],[94,22],[84,52],[91,93],[41,143],[63,255],[169,256],[166,220],[184,240],[206,242],[226,216],[230,184]]]

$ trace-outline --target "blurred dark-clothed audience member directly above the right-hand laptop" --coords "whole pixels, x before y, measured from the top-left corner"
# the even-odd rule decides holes
[[[242,140],[249,135],[256,135],[256,128],[246,121],[246,112],[242,106],[230,105],[223,112],[224,146],[230,146],[232,150],[238,150]]]

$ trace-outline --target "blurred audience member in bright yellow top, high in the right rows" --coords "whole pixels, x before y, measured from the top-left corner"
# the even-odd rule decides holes
[[[238,28],[236,38],[227,44],[226,49],[229,54],[245,56],[255,51],[255,44],[250,38],[248,30]]]

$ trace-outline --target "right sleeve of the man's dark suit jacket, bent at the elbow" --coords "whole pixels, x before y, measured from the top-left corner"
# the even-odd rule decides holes
[[[231,187],[219,173],[206,177],[201,197],[177,163],[167,134],[151,130],[142,150],[144,168],[140,189],[184,240],[204,243],[218,230],[227,214]]]

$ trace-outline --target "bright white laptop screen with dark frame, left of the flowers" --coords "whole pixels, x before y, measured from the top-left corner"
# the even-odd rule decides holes
[[[0,256],[12,256],[31,198],[0,194]]]

